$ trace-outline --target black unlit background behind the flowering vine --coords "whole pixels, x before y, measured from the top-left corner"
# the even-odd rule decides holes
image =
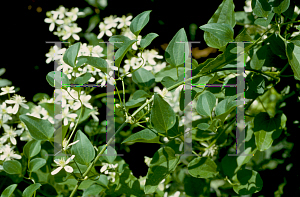
[[[142,3],[141,3],[142,2]],[[159,35],[149,48],[155,47],[159,49],[160,55],[163,55],[161,45],[168,43],[176,32],[184,27],[189,37],[189,25],[195,23],[198,27],[207,23],[210,17],[218,8],[221,0],[218,1],[158,1],[158,0],[109,0],[108,6],[100,11],[100,18],[110,16],[111,14],[121,17],[131,13],[133,17],[146,10],[152,10],[150,13],[150,21],[142,30],[142,35],[154,32]],[[234,0],[235,11],[243,11],[244,1]],[[69,0],[22,0],[19,3],[12,2],[4,8],[5,17],[2,18],[1,29],[5,35],[3,37],[4,54],[2,55],[1,67],[6,68],[6,73],[2,78],[12,81],[12,85],[19,87],[19,95],[24,96],[27,101],[32,101],[36,93],[47,93],[50,97],[54,89],[47,83],[46,75],[53,71],[54,63],[46,64],[45,54],[49,52],[51,44],[47,41],[59,41],[58,37],[49,32],[49,24],[44,22],[46,11],[55,10],[63,5],[66,8],[78,7],[83,9],[88,5],[87,2],[69,1]],[[31,8],[29,9],[29,6]],[[83,31],[87,28],[87,18],[77,19],[79,27]],[[164,24],[159,23],[162,21]],[[235,36],[241,29],[236,26]],[[98,26],[93,32],[99,33]],[[103,37],[105,39],[105,37]],[[85,42],[84,39],[80,40]],[[207,45],[203,39],[203,31],[199,28],[196,31],[195,41],[201,43],[195,45],[199,49],[204,49]],[[194,45],[193,45],[194,46]],[[211,54],[207,58],[215,57]],[[207,58],[198,59],[201,63]],[[292,98],[291,98],[292,99]],[[293,100],[293,102],[296,102]],[[287,105],[286,111],[293,110],[293,106]],[[104,114],[104,113],[102,113]],[[286,113],[287,117],[288,114]],[[292,128],[289,122],[287,127]],[[136,143],[130,146],[130,153],[123,157],[130,165],[130,169],[136,177],[145,176],[147,167],[144,163],[144,156],[152,157],[158,150],[159,145]],[[294,152],[294,151],[293,151]],[[297,154],[294,152],[294,154]],[[295,156],[295,155],[294,155]],[[292,158],[288,158],[289,162],[296,162]],[[297,162],[296,162],[297,163]],[[294,163],[294,164],[296,164]],[[299,163],[299,162],[298,162]],[[278,165],[278,169],[264,170],[259,172],[264,186],[261,192],[253,194],[253,196],[265,195],[273,196],[274,191],[278,189],[278,185],[283,182],[283,177],[287,178],[288,184],[284,187],[284,193],[294,196],[293,191],[298,187],[299,183],[298,171],[295,167],[286,172],[285,165]]]

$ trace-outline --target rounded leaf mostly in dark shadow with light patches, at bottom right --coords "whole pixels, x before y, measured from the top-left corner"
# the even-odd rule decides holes
[[[239,170],[237,173],[237,179],[240,185],[234,185],[233,190],[239,195],[257,193],[263,187],[263,180],[255,170]]]

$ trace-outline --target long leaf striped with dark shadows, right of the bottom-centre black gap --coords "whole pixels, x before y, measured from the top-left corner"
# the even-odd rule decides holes
[[[177,166],[179,156],[175,156],[172,148],[160,148],[153,156],[145,184],[145,194],[154,193],[158,184]]]

